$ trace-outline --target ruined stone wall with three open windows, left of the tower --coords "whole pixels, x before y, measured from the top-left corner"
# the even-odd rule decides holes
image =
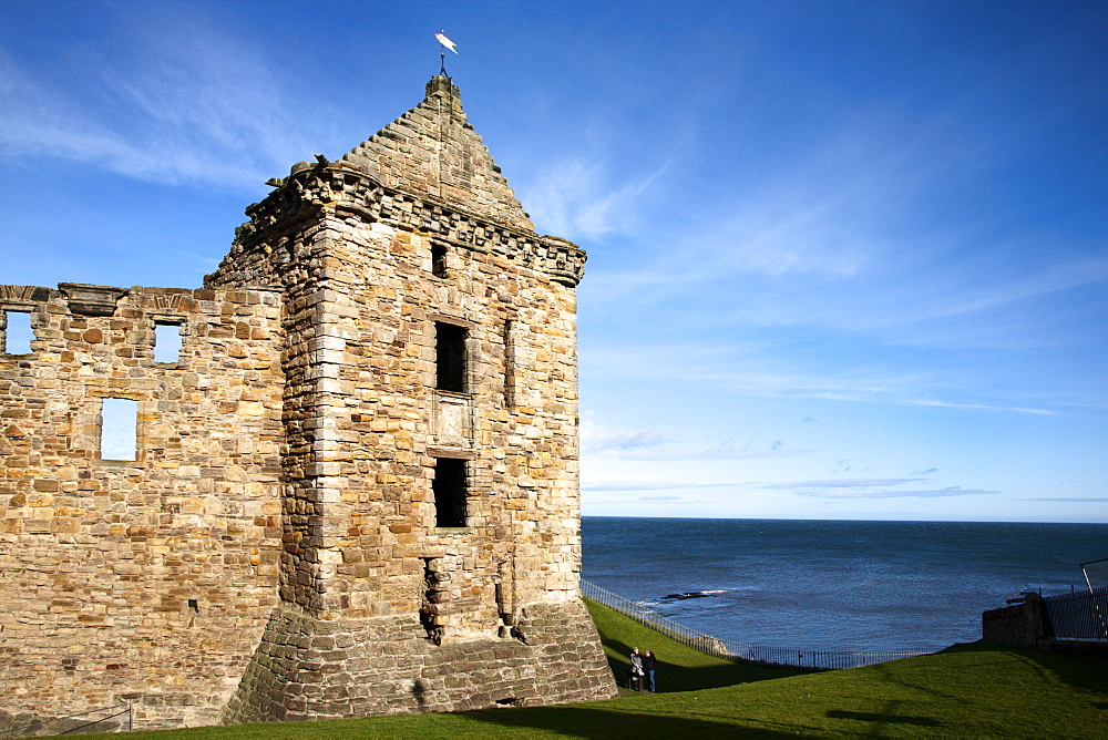
[[[0,711],[211,723],[277,603],[281,297],[61,287],[0,286],[35,337],[0,353]],[[134,460],[104,398],[137,401]]]

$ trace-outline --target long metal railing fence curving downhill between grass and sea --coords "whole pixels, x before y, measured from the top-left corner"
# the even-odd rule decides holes
[[[674,621],[669,617],[663,616],[642,604],[636,604],[618,594],[601,588],[594,583],[581,580],[581,595],[599,602],[601,604],[630,617],[635,621],[642,623],[652,629],[661,633],[666,637],[677,640],[683,645],[696,648],[701,652],[714,655],[728,660],[747,660],[776,666],[791,666],[794,668],[817,668],[820,670],[839,670],[842,668],[858,668],[861,666],[872,666],[889,660],[900,658],[911,658],[920,655],[931,655],[923,651],[896,650],[825,650],[825,649],[793,649],[774,648],[757,645],[748,645],[736,640],[725,640],[711,635],[705,635],[680,623]]]

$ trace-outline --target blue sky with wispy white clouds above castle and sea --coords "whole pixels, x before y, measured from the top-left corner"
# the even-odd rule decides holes
[[[439,69],[588,250],[585,514],[1108,522],[1108,4],[0,3],[0,282],[198,286]]]

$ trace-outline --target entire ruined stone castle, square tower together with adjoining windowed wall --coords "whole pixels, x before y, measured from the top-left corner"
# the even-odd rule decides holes
[[[203,288],[0,286],[0,719],[613,696],[578,597],[584,253],[443,75],[269,184]]]

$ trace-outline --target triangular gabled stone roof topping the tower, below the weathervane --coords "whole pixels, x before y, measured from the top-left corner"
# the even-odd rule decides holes
[[[481,136],[465,119],[458,88],[437,75],[427,97],[342,160],[382,185],[429,195],[490,220],[534,232]]]

